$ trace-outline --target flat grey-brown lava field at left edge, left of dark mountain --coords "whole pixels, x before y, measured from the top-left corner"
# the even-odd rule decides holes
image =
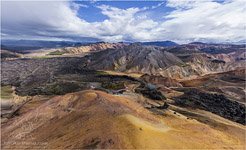
[[[2,85],[30,85],[51,81],[56,73],[83,66],[79,58],[18,59],[1,62]]]

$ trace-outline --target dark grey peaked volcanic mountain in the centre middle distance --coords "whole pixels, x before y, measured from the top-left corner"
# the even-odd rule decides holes
[[[98,70],[116,70],[156,74],[159,70],[183,62],[159,47],[131,44],[120,49],[108,49],[90,55],[87,67]]]

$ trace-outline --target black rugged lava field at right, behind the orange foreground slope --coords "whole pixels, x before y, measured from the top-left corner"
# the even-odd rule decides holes
[[[232,101],[221,94],[211,94],[197,89],[189,89],[184,91],[184,95],[175,98],[175,103],[183,107],[210,111],[240,124],[246,124],[245,105]]]

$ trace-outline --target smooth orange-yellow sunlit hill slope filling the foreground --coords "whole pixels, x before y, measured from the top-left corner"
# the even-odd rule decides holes
[[[227,127],[215,130],[170,110],[157,115],[135,101],[92,90],[54,97],[3,124],[2,148],[243,149]],[[244,134],[243,126],[233,127]]]

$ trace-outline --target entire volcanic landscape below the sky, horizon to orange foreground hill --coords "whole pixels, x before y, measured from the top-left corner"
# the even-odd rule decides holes
[[[245,45],[71,44],[2,47],[1,148],[245,149]]]

